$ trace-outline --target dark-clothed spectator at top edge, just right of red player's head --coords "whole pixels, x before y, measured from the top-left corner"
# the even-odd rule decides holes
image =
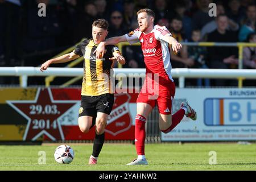
[[[172,11],[168,11],[167,2],[166,0],[155,0],[155,22],[158,22],[160,19],[172,19],[174,14]]]

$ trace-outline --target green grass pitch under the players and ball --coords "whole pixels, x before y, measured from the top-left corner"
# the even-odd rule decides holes
[[[146,144],[148,166],[126,166],[136,158],[133,144],[105,143],[98,164],[89,166],[92,144],[72,144],[75,159],[71,164],[58,164],[53,158],[57,146],[0,146],[2,170],[256,170],[256,144],[237,143],[158,143]],[[39,151],[46,152],[46,164],[39,164]],[[209,164],[209,152],[216,151],[217,164]]]

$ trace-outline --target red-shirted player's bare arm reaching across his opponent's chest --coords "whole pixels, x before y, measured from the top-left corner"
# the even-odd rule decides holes
[[[96,58],[99,59],[100,55],[102,55],[102,57],[104,56],[105,46],[115,45],[119,42],[126,42],[126,41],[127,40],[125,38],[125,35],[114,36],[113,38],[106,39],[104,42],[101,42],[100,44],[98,44],[98,47],[96,48],[96,50],[93,53],[96,53]]]

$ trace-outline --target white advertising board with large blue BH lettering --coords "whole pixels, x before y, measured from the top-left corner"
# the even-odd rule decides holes
[[[197,120],[184,117],[162,141],[256,140],[256,88],[176,89],[174,113],[185,100]]]

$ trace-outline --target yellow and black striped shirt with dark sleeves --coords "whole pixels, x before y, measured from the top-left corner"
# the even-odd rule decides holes
[[[113,57],[113,53],[119,52],[119,50],[115,46],[106,46],[104,57],[96,59],[93,52],[97,46],[93,39],[85,39],[75,48],[76,55],[84,56],[82,96],[100,96],[101,94],[114,93],[111,82],[113,80],[113,61],[109,58]]]

